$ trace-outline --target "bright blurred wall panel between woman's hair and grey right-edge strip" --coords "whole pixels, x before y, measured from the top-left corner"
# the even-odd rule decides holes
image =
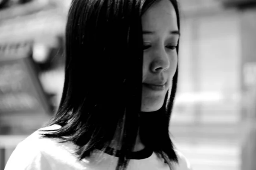
[[[239,14],[220,10],[184,15],[170,130],[195,170],[239,170]]]

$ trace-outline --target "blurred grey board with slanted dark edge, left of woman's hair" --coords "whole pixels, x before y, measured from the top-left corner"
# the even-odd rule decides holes
[[[29,49],[23,57],[21,50],[16,56],[15,52],[0,53],[0,113],[49,113]]]

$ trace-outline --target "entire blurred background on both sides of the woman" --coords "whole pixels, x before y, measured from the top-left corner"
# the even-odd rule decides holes
[[[179,0],[170,131],[193,170],[256,170],[256,0]],[[54,114],[70,0],[0,0],[0,170]]]

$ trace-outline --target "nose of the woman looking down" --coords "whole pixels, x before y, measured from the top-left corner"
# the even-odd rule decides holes
[[[151,62],[151,71],[159,73],[167,70],[170,66],[168,54],[164,49],[158,50],[154,55]]]

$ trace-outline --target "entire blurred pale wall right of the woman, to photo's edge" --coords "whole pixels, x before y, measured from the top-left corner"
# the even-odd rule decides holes
[[[182,2],[173,140],[196,170],[255,170],[256,10]]]

